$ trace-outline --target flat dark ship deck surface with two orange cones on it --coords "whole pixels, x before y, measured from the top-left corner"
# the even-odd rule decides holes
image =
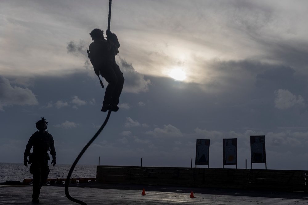
[[[141,195],[143,188],[146,195]],[[190,198],[193,191],[194,198]],[[115,204],[306,204],[308,193],[288,191],[255,191],[240,189],[192,188],[151,185],[74,184],[70,195],[88,205]],[[33,204],[32,186],[0,186],[0,204]],[[40,203],[78,204],[65,196],[63,185],[46,185],[41,189]]]

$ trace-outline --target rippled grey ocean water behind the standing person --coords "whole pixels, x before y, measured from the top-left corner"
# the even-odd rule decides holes
[[[54,167],[49,164],[49,179],[67,178],[71,164],[56,164]],[[71,178],[96,178],[97,165],[77,164]],[[29,171],[30,164],[26,167],[23,163],[0,163],[0,183],[6,181],[23,181],[33,179]]]

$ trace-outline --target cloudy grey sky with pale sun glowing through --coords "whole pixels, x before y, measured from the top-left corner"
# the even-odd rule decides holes
[[[108,0],[0,2],[0,162],[22,163],[41,117],[61,164],[101,126],[86,50],[107,18]],[[268,169],[308,169],[307,19],[306,0],[114,0],[120,110],[79,164],[190,167],[210,139],[222,168],[223,139],[237,138],[250,168],[249,136],[265,135]]]

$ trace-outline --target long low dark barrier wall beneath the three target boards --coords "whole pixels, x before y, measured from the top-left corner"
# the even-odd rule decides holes
[[[307,191],[308,171],[97,166],[98,183]]]

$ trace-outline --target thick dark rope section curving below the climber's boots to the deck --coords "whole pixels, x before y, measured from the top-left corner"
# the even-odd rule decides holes
[[[78,163],[78,161],[80,160],[81,156],[83,155],[83,153],[87,150],[87,148],[91,145],[91,143],[96,139],[97,136],[99,136],[100,132],[102,132],[103,128],[105,127],[105,125],[107,124],[109,117],[110,117],[110,113],[111,113],[111,109],[108,111],[107,117],[104,121],[104,123],[102,124],[102,126],[99,128],[99,130],[96,132],[96,134],[92,137],[92,139],[88,142],[88,144],[86,144],[86,146],[84,146],[84,148],[82,149],[82,151],[79,153],[78,157],[76,158],[75,162],[73,163],[73,165],[71,166],[70,171],[68,172],[66,181],[65,181],[65,195],[67,197],[67,199],[70,199],[73,202],[79,203],[79,204],[83,204],[83,205],[87,205],[86,203],[84,203],[83,201],[80,201],[78,199],[74,199],[73,197],[71,197],[71,195],[68,193],[68,185],[70,183],[70,179],[71,179],[71,175],[72,172],[76,166],[76,164]]]

